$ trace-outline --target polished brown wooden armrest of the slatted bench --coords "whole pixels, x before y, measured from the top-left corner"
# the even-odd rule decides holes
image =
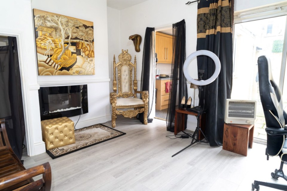
[[[12,175],[0,178],[0,190],[3,190],[7,187],[13,186],[15,184],[21,183],[28,179],[31,179],[37,175],[43,174],[43,178],[31,182],[30,184],[26,184],[16,190],[34,190],[35,188],[41,188],[45,191],[51,190],[51,166],[48,162],[38,165],[36,167],[31,167],[27,170],[22,170],[20,172],[16,172]],[[38,190],[39,190],[38,188]]]

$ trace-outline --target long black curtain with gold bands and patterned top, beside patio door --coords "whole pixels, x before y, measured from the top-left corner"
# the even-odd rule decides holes
[[[234,0],[199,0],[197,10],[196,50],[209,50],[221,62],[218,78],[203,87],[200,104],[207,108],[205,133],[210,146],[222,145],[225,102],[232,89],[232,23]],[[210,78],[215,70],[213,60],[207,56],[197,57],[199,70],[204,70],[203,80]]]

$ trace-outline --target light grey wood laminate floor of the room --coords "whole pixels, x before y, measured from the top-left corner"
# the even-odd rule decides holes
[[[112,126],[110,121],[105,125]],[[282,178],[271,178],[280,158],[267,161],[262,144],[254,143],[247,157],[206,144],[195,144],[171,157],[191,139],[166,138],[173,133],[166,130],[165,121],[154,119],[144,125],[118,116],[116,129],[126,135],[54,160],[46,153],[24,156],[24,166],[50,162],[55,191],[243,191],[251,190],[254,179],[286,184]],[[264,190],[274,189],[260,186]]]

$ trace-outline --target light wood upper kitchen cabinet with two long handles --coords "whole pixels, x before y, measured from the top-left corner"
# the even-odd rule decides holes
[[[155,52],[158,54],[158,63],[172,63],[172,43],[171,35],[155,33]]]

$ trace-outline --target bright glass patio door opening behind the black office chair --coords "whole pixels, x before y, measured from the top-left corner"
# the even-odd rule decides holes
[[[283,59],[286,15],[235,24],[233,43],[233,88],[232,99],[257,101],[254,138],[266,140],[265,118],[259,96],[257,59],[266,55],[271,59],[271,68],[277,84],[284,84],[286,61]],[[286,55],[285,55],[286,57]],[[284,84],[285,86],[285,84]],[[282,91],[282,87],[281,87]],[[283,92],[283,91],[282,91]],[[284,95],[284,92],[283,92]],[[285,91],[285,95],[287,95]],[[283,96],[286,106],[286,96]]]

